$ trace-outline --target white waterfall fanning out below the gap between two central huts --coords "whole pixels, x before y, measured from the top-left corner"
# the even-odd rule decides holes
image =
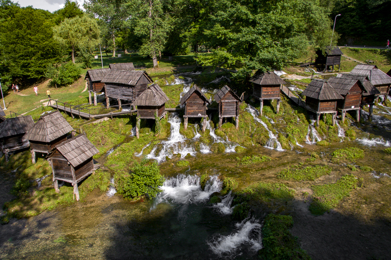
[[[171,135],[169,140],[160,143],[162,148],[158,154],[156,154],[158,146],[155,146],[150,154],[147,155],[147,158],[155,159],[158,163],[161,163],[165,160],[166,156],[172,158],[174,154],[181,154],[181,158],[184,158],[188,153],[191,156],[195,156],[195,150],[186,143],[186,138],[179,133],[181,118],[178,114],[173,114],[168,122],[171,124]]]

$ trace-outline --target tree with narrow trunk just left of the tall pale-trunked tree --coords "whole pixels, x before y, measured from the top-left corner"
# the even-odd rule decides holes
[[[102,31],[102,38],[110,43],[106,46],[113,49],[113,57],[116,56],[116,38],[124,28],[124,22],[129,18],[125,7],[126,0],[88,0],[84,3],[84,8],[88,13],[93,14],[99,20]]]

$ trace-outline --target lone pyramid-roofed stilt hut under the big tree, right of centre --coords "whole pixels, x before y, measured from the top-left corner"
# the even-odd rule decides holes
[[[277,113],[280,111],[280,92],[281,87],[285,84],[285,81],[278,77],[274,72],[262,72],[258,70],[254,76],[250,79],[253,83],[253,96],[261,102],[259,113],[262,116],[263,101],[264,100],[276,100],[277,101]]]

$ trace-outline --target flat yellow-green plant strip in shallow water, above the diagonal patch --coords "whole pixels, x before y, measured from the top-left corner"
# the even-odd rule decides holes
[[[331,172],[331,168],[328,166],[308,166],[302,168],[302,165],[296,165],[284,169],[278,172],[276,175],[283,180],[295,180],[295,181],[313,181],[323,175],[327,175]]]

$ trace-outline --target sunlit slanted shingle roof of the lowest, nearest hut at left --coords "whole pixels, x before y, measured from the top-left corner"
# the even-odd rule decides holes
[[[95,154],[99,153],[98,149],[88,140],[85,135],[78,135],[67,141],[56,145],[55,148],[76,167]]]

